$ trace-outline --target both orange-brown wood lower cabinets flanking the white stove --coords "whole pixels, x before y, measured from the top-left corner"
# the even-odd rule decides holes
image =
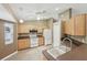
[[[44,45],[44,37],[39,36],[39,46]],[[31,47],[30,39],[20,39],[18,40],[18,50],[24,50]]]

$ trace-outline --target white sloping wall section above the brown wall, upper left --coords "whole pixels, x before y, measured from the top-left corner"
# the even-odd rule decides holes
[[[3,8],[2,4],[0,4],[0,19],[15,22],[13,17]]]

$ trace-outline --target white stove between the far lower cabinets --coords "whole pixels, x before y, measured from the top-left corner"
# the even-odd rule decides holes
[[[39,37],[36,34],[30,34],[31,47],[39,46]]]

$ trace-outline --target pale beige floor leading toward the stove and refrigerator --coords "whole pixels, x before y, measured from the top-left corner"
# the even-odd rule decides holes
[[[42,51],[51,47],[52,45],[47,45],[19,51],[18,54],[7,58],[6,61],[47,61],[42,54]]]

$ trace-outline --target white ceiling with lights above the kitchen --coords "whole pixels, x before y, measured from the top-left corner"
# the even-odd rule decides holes
[[[58,18],[58,13],[68,9],[79,9],[87,7],[87,4],[77,3],[10,3],[9,8],[12,10],[18,20],[36,20]],[[57,9],[57,10],[56,10]]]

